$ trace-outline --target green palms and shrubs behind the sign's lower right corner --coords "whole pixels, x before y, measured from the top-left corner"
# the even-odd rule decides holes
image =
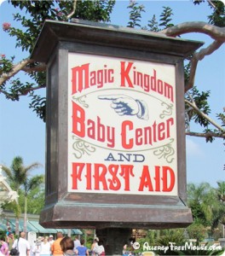
[[[149,246],[167,246],[170,247],[170,242],[174,246],[183,246],[186,242],[190,243],[189,239],[195,239],[198,245],[199,242],[205,241],[206,238],[222,237],[222,231],[219,232],[220,224],[225,224],[225,204],[224,190],[225,182],[217,182],[217,187],[212,188],[209,183],[187,184],[187,204],[193,212],[193,224],[186,229],[173,230],[147,230],[147,236],[138,239],[140,249],[136,253],[141,253],[141,248],[145,242]],[[206,252],[207,251],[207,252]],[[196,250],[192,251],[187,248],[185,251],[167,250],[166,252],[159,251],[159,255],[198,255],[204,254],[219,255],[220,250]]]

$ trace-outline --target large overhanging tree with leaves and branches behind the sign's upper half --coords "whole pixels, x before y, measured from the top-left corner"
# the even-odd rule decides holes
[[[204,1],[193,1],[193,4],[202,4]],[[115,1],[10,1],[15,8],[25,9],[27,15],[20,13],[14,15],[14,19],[24,26],[25,31],[11,27],[9,23],[3,24],[3,30],[9,32],[9,35],[16,38],[16,46],[22,50],[31,52],[38,33],[43,26],[43,20],[71,20],[72,18],[93,20],[100,22],[109,22],[110,15],[113,11]],[[141,27],[141,14],[145,11],[143,5],[139,5],[136,1],[130,1],[128,8],[130,9],[130,21],[128,26],[141,27],[153,32],[164,33],[168,37],[181,37],[185,33],[198,32],[213,38],[213,43],[205,49],[189,56],[186,66],[186,82],[185,96],[186,102],[186,120],[187,135],[196,137],[205,137],[206,142],[212,142],[214,137],[225,137],[224,113],[217,114],[217,122],[209,117],[211,108],[208,105],[209,92],[199,92],[194,86],[194,76],[198,62],[203,60],[206,55],[211,55],[216,49],[224,44],[225,39],[225,15],[224,5],[221,1],[208,1],[212,14],[206,22],[184,22],[176,26],[172,23],[172,10],[164,7],[160,16],[159,23],[153,15],[153,19],[148,21],[147,26]],[[159,24],[159,25],[158,25]],[[40,88],[45,87],[45,65],[32,61],[29,56],[14,64],[14,58],[6,58],[2,55],[0,60],[0,92],[12,101],[18,101],[20,96],[29,95],[32,97],[30,107],[38,114],[40,118],[45,120],[45,97],[38,95],[36,92]],[[33,79],[33,83],[25,84],[20,79],[14,79],[14,75],[24,71]],[[10,80],[10,84],[9,84]],[[203,126],[205,130],[201,133],[190,131],[190,121]],[[221,124],[219,124],[220,122]],[[209,128],[209,125],[215,129]]]

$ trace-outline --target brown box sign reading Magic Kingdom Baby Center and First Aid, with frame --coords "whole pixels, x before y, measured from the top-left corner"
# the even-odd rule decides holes
[[[174,228],[186,205],[183,60],[202,43],[47,20],[44,227]]]

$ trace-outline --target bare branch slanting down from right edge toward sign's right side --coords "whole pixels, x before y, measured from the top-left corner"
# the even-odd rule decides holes
[[[185,84],[185,92],[193,87],[198,62],[203,60],[205,55],[211,55],[216,49],[219,49],[222,44],[222,41],[214,41],[205,49],[200,49],[199,52],[193,54],[193,58],[191,59],[190,76],[187,83]]]

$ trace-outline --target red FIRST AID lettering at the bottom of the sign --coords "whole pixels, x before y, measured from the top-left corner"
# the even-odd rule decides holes
[[[154,175],[154,176],[153,176]],[[72,163],[72,189],[85,190],[170,192],[175,186],[175,173],[170,166],[142,166],[139,186],[131,187],[138,177],[133,165],[109,165],[100,163]],[[135,178],[133,178],[135,177]]]

